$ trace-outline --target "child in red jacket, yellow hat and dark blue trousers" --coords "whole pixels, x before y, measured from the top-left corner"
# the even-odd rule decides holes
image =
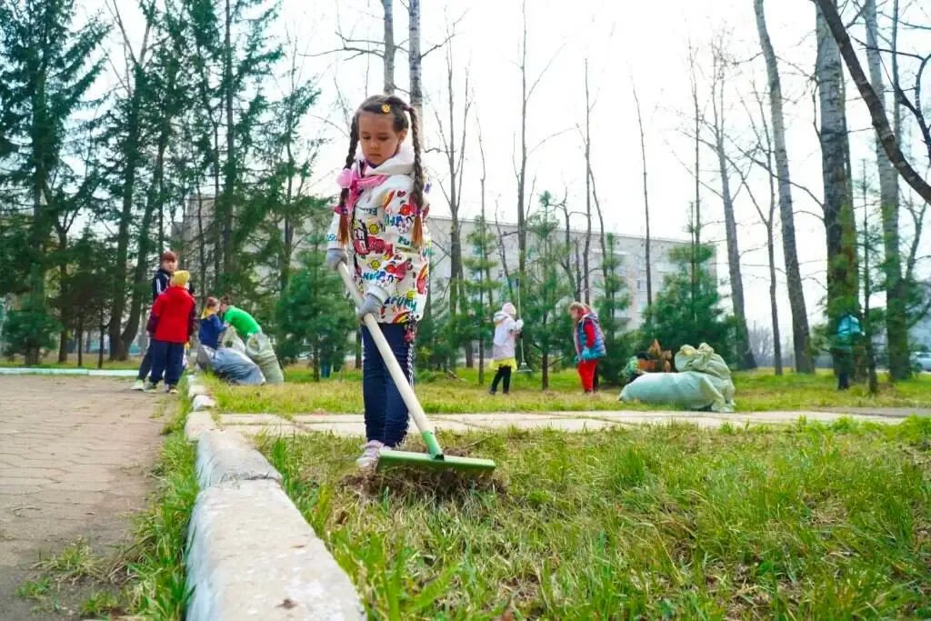
[[[178,393],[184,360],[184,344],[194,332],[195,302],[187,291],[191,275],[185,271],[175,272],[171,286],[158,296],[152,306],[148,329],[153,333],[152,375],[145,386],[146,392],[155,392],[155,387],[165,374],[167,392]]]

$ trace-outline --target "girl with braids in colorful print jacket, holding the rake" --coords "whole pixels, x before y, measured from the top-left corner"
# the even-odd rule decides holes
[[[411,146],[404,143],[409,130]],[[348,265],[364,297],[358,317],[374,314],[411,383],[413,342],[429,280],[419,131],[414,109],[398,97],[375,95],[362,102],[352,119],[349,153],[338,179],[340,202],[327,236],[327,263],[334,270]],[[408,409],[365,326],[362,346],[368,441],[357,463],[368,467],[382,447],[404,440]]]

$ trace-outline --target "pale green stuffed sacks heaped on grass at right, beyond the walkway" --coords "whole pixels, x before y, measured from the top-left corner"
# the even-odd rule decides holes
[[[682,345],[676,373],[647,373],[621,391],[622,401],[668,403],[689,410],[734,412],[731,370],[708,344]]]

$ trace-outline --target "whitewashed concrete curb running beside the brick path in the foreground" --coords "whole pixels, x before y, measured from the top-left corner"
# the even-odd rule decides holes
[[[188,394],[210,399],[196,377]],[[210,412],[191,412],[184,433],[197,442],[200,486],[188,526],[188,621],[365,619],[352,580],[263,454],[214,429]]]

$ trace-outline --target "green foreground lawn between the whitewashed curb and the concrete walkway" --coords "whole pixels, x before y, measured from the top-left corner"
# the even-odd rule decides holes
[[[371,618],[931,615],[931,420],[441,435],[494,477],[261,439]]]

